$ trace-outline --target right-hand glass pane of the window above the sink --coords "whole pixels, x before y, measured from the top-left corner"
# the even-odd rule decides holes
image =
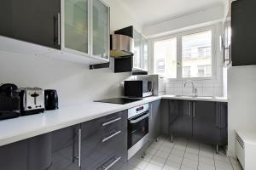
[[[183,36],[182,43],[183,78],[212,77],[212,31]]]

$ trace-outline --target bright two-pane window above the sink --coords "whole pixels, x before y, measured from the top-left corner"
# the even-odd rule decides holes
[[[154,41],[154,73],[168,78],[212,77],[212,27]]]

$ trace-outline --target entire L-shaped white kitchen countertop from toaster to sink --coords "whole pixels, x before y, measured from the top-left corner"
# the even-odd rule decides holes
[[[158,99],[189,99],[226,102],[224,98],[185,98],[173,95],[153,96],[126,105],[116,105],[99,102],[84,102],[83,105],[62,107],[55,111],[44,111],[43,114],[20,116],[18,118],[0,121],[0,146],[11,144],[22,139],[49,133],[64,127],[87,122],[101,116],[124,111],[137,105],[143,105]]]

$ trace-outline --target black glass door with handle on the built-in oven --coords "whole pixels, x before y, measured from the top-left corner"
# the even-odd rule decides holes
[[[128,150],[148,133],[149,112],[128,119]]]

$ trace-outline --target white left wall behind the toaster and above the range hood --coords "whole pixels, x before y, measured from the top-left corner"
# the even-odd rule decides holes
[[[139,23],[133,22],[133,16],[117,0],[106,2],[111,8],[111,30],[131,25],[142,30]],[[12,82],[20,87],[55,88],[60,96],[60,105],[119,96],[122,92],[119,83],[130,77],[130,74],[114,74],[109,68],[90,71],[89,65],[0,52],[0,83]]]

